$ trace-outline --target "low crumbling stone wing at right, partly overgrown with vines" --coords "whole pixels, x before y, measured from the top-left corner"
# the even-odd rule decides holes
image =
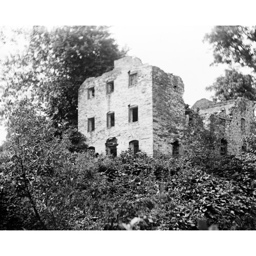
[[[242,141],[255,130],[254,102],[244,98],[232,99],[223,102],[197,101],[192,109],[199,111],[204,118],[205,127],[214,123],[219,137],[220,153],[239,154],[248,150]],[[205,104],[202,104],[204,101]]]

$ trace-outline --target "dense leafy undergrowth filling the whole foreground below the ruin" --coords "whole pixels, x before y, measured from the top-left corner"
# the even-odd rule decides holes
[[[52,121],[27,102],[9,112],[8,154],[1,155],[1,229],[255,229],[255,164],[226,157],[199,161],[71,153]],[[169,168],[168,168],[169,166]]]

